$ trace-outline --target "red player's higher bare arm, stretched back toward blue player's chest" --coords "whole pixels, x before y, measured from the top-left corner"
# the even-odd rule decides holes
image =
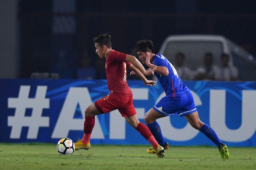
[[[134,67],[136,67],[143,75],[153,75],[156,68],[152,68],[150,70],[145,70],[139,60],[129,54],[126,54],[126,62],[130,62]]]

